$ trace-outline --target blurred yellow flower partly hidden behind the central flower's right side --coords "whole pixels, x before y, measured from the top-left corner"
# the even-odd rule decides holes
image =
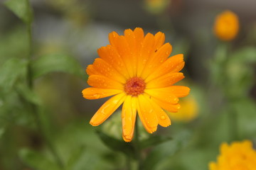
[[[171,120],[178,122],[189,122],[198,116],[198,103],[193,96],[182,98],[181,109],[177,113],[169,113]]]

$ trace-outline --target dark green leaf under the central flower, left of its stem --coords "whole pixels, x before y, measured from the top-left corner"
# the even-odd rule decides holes
[[[110,147],[110,149],[113,149],[115,151],[123,152],[127,155],[133,155],[134,147],[132,147],[131,143],[124,142],[123,140],[117,140],[114,137],[110,137],[109,135],[106,135],[104,132],[97,131],[97,134],[100,136],[100,139],[102,142],[107,145],[107,147]]]

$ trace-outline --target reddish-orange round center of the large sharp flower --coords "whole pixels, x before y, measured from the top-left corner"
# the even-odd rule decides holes
[[[124,91],[132,96],[143,94],[145,88],[146,84],[144,80],[139,77],[132,77],[131,79],[127,80],[126,84],[124,84]]]

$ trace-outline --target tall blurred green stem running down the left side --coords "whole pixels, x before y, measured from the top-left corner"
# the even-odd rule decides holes
[[[33,79],[32,79],[32,70],[31,70],[31,58],[33,55],[33,42],[32,42],[32,22],[27,25],[27,33],[28,33],[28,60],[30,61],[28,64],[28,86],[31,90],[33,90]],[[43,123],[41,121],[40,115],[38,113],[38,106],[36,106],[34,103],[29,103],[31,105],[32,113],[36,120],[36,125],[38,127],[39,133],[42,135],[43,140],[45,140],[46,145],[50,152],[53,154],[53,157],[55,158],[55,161],[60,166],[60,169],[64,169],[64,164],[61,161],[58,152],[56,152],[55,146],[53,143],[49,140],[49,138],[46,135],[46,132],[43,128]]]

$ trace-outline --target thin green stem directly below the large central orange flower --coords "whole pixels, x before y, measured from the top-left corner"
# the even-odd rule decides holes
[[[134,149],[135,149],[135,156],[137,159],[137,169],[142,169],[142,153],[141,153],[141,148],[139,144],[139,123],[138,123],[138,118],[135,122],[135,135],[134,135]]]

